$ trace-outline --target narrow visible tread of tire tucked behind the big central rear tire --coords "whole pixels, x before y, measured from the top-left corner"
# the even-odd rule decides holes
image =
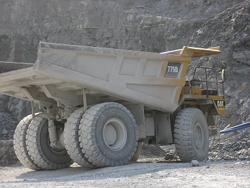
[[[79,125],[83,114],[84,108],[79,108],[67,119],[64,128],[65,148],[70,158],[77,164],[84,167],[94,167],[91,163],[89,163],[88,159],[86,159],[80,146]]]

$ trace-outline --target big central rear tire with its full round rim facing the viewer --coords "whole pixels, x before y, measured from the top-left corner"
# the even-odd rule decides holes
[[[126,164],[137,147],[138,131],[133,115],[121,104],[92,106],[80,124],[82,153],[96,167]]]

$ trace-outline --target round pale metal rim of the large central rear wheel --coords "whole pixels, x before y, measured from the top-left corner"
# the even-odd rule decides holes
[[[127,142],[126,127],[117,118],[111,118],[105,123],[102,136],[104,143],[112,151],[121,150]]]

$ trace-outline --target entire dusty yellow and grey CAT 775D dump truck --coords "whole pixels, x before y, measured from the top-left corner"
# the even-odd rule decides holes
[[[44,110],[18,124],[17,157],[33,170],[73,162],[117,166],[136,161],[147,141],[175,144],[184,162],[204,160],[209,132],[216,134],[209,131],[213,116],[225,114],[224,97],[210,86],[223,80],[185,76],[193,57],[218,53],[219,47],[159,54],[41,42],[35,64],[0,63],[8,71],[0,74],[0,92]],[[199,68],[208,75],[210,68]]]

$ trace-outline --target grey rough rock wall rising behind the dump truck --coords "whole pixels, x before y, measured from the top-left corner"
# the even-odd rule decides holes
[[[151,52],[221,46],[222,54],[194,60],[187,78],[197,65],[225,66],[221,127],[250,121],[248,0],[2,0],[0,17],[0,61],[34,63],[39,41]],[[0,103],[0,139],[9,139],[30,104],[3,95]]]

